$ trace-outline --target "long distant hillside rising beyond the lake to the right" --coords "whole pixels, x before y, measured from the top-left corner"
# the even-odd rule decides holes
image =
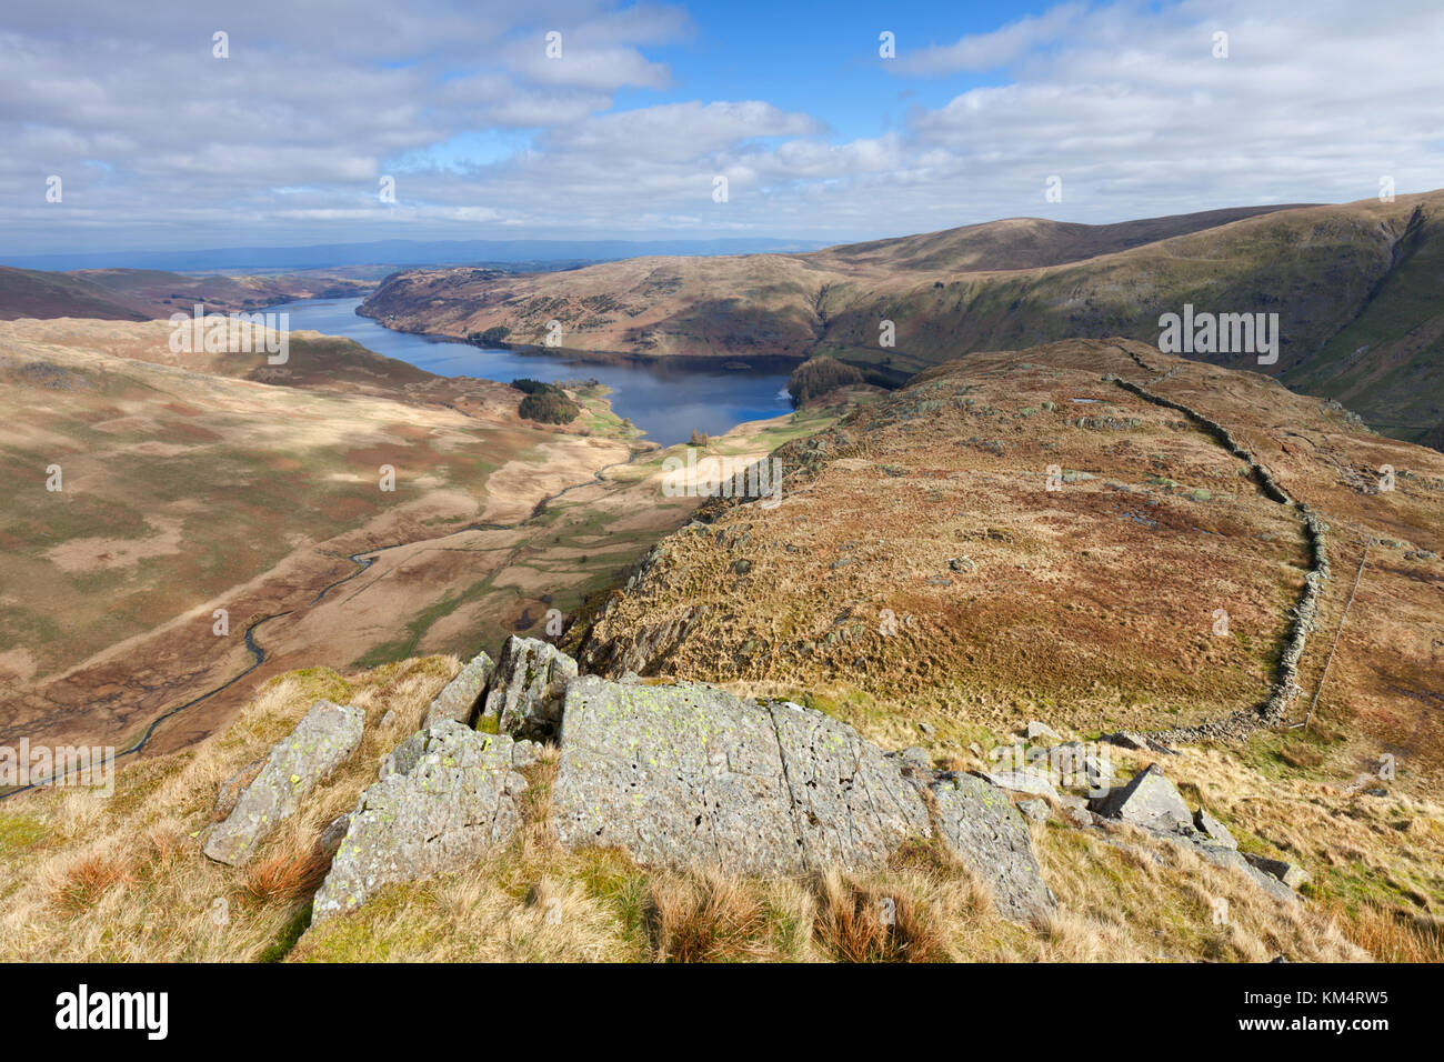
[[[803,254],[632,259],[565,273],[412,270],[362,312],[391,328],[716,360],[832,354],[905,376],[1064,338],[1155,344],[1184,303],[1278,312],[1264,371],[1418,441],[1444,420],[1444,192],[1070,225],[1014,218]],[[895,345],[879,345],[892,321]],[[1213,355],[1261,368],[1252,354]]]

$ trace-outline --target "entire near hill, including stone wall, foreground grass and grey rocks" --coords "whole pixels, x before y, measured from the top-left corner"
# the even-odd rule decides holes
[[[709,444],[771,449],[775,507],[666,533],[651,454],[449,538],[494,590],[569,581],[575,662],[292,646],[114,799],[10,798],[0,957],[1441,958],[1444,458],[1126,340],[830,403]],[[436,551],[345,623],[494,623],[407,577]],[[1048,773],[1001,767],[1025,740]]]

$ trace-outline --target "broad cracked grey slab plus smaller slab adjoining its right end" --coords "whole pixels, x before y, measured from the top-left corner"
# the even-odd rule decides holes
[[[881,865],[910,838],[934,837],[936,802],[943,839],[995,880],[999,907],[1034,910],[1047,889],[1006,796],[967,780],[924,799],[933,780],[921,757],[885,756],[796,704],[583,676],[567,688],[552,799],[570,848],[741,874]],[[1028,886],[1011,880],[1030,873]]]

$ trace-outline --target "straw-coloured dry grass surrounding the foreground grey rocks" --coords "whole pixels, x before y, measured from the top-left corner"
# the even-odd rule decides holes
[[[110,800],[40,792],[0,816],[0,959],[78,961],[1440,961],[1440,811],[1278,777],[1233,751],[1184,750],[1165,770],[1245,850],[1314,876],[1281,906],[1246,877],[1136,831],[1032,824],[1058,910],[998,916],[988,889],[934,845],[874,873],[758,880],[647,870],[617,851],[566,851],[550,824],[557,750],[526,769],[524,825],[474,867],[384,889],[306,932],[325,874],[318,839],[374,780],[459,666],[427,657],[341,678],[270,683],[224,733],[144,760]],[[263,754],[318,696],[362,708],[349,763],[245,867],[199,845],[219,783]],[[380,720],[396,709],[397,721]],[[1118,751],[1121,767],[1144,763]],[[1272,770],[1272,769],[1269,769]],[[1112,841],[1112,842],[1110,842]],[[1214,900],[1227,920],[1214,925]],[[296,939],[299,936],[299,944]],[[295,945],[295,946],[292,946]]]

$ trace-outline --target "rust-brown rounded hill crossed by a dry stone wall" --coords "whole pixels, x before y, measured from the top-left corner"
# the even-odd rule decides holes
[[[663,540],[578,634],[583,668],[861,695],[963,743],[1043,712],[1298,720],[1373,540],[1318,712],[1362,757],[1437,767],[1432,451],[1253,373],[1069,341],[930,370],[777,457],[781,504]]]

